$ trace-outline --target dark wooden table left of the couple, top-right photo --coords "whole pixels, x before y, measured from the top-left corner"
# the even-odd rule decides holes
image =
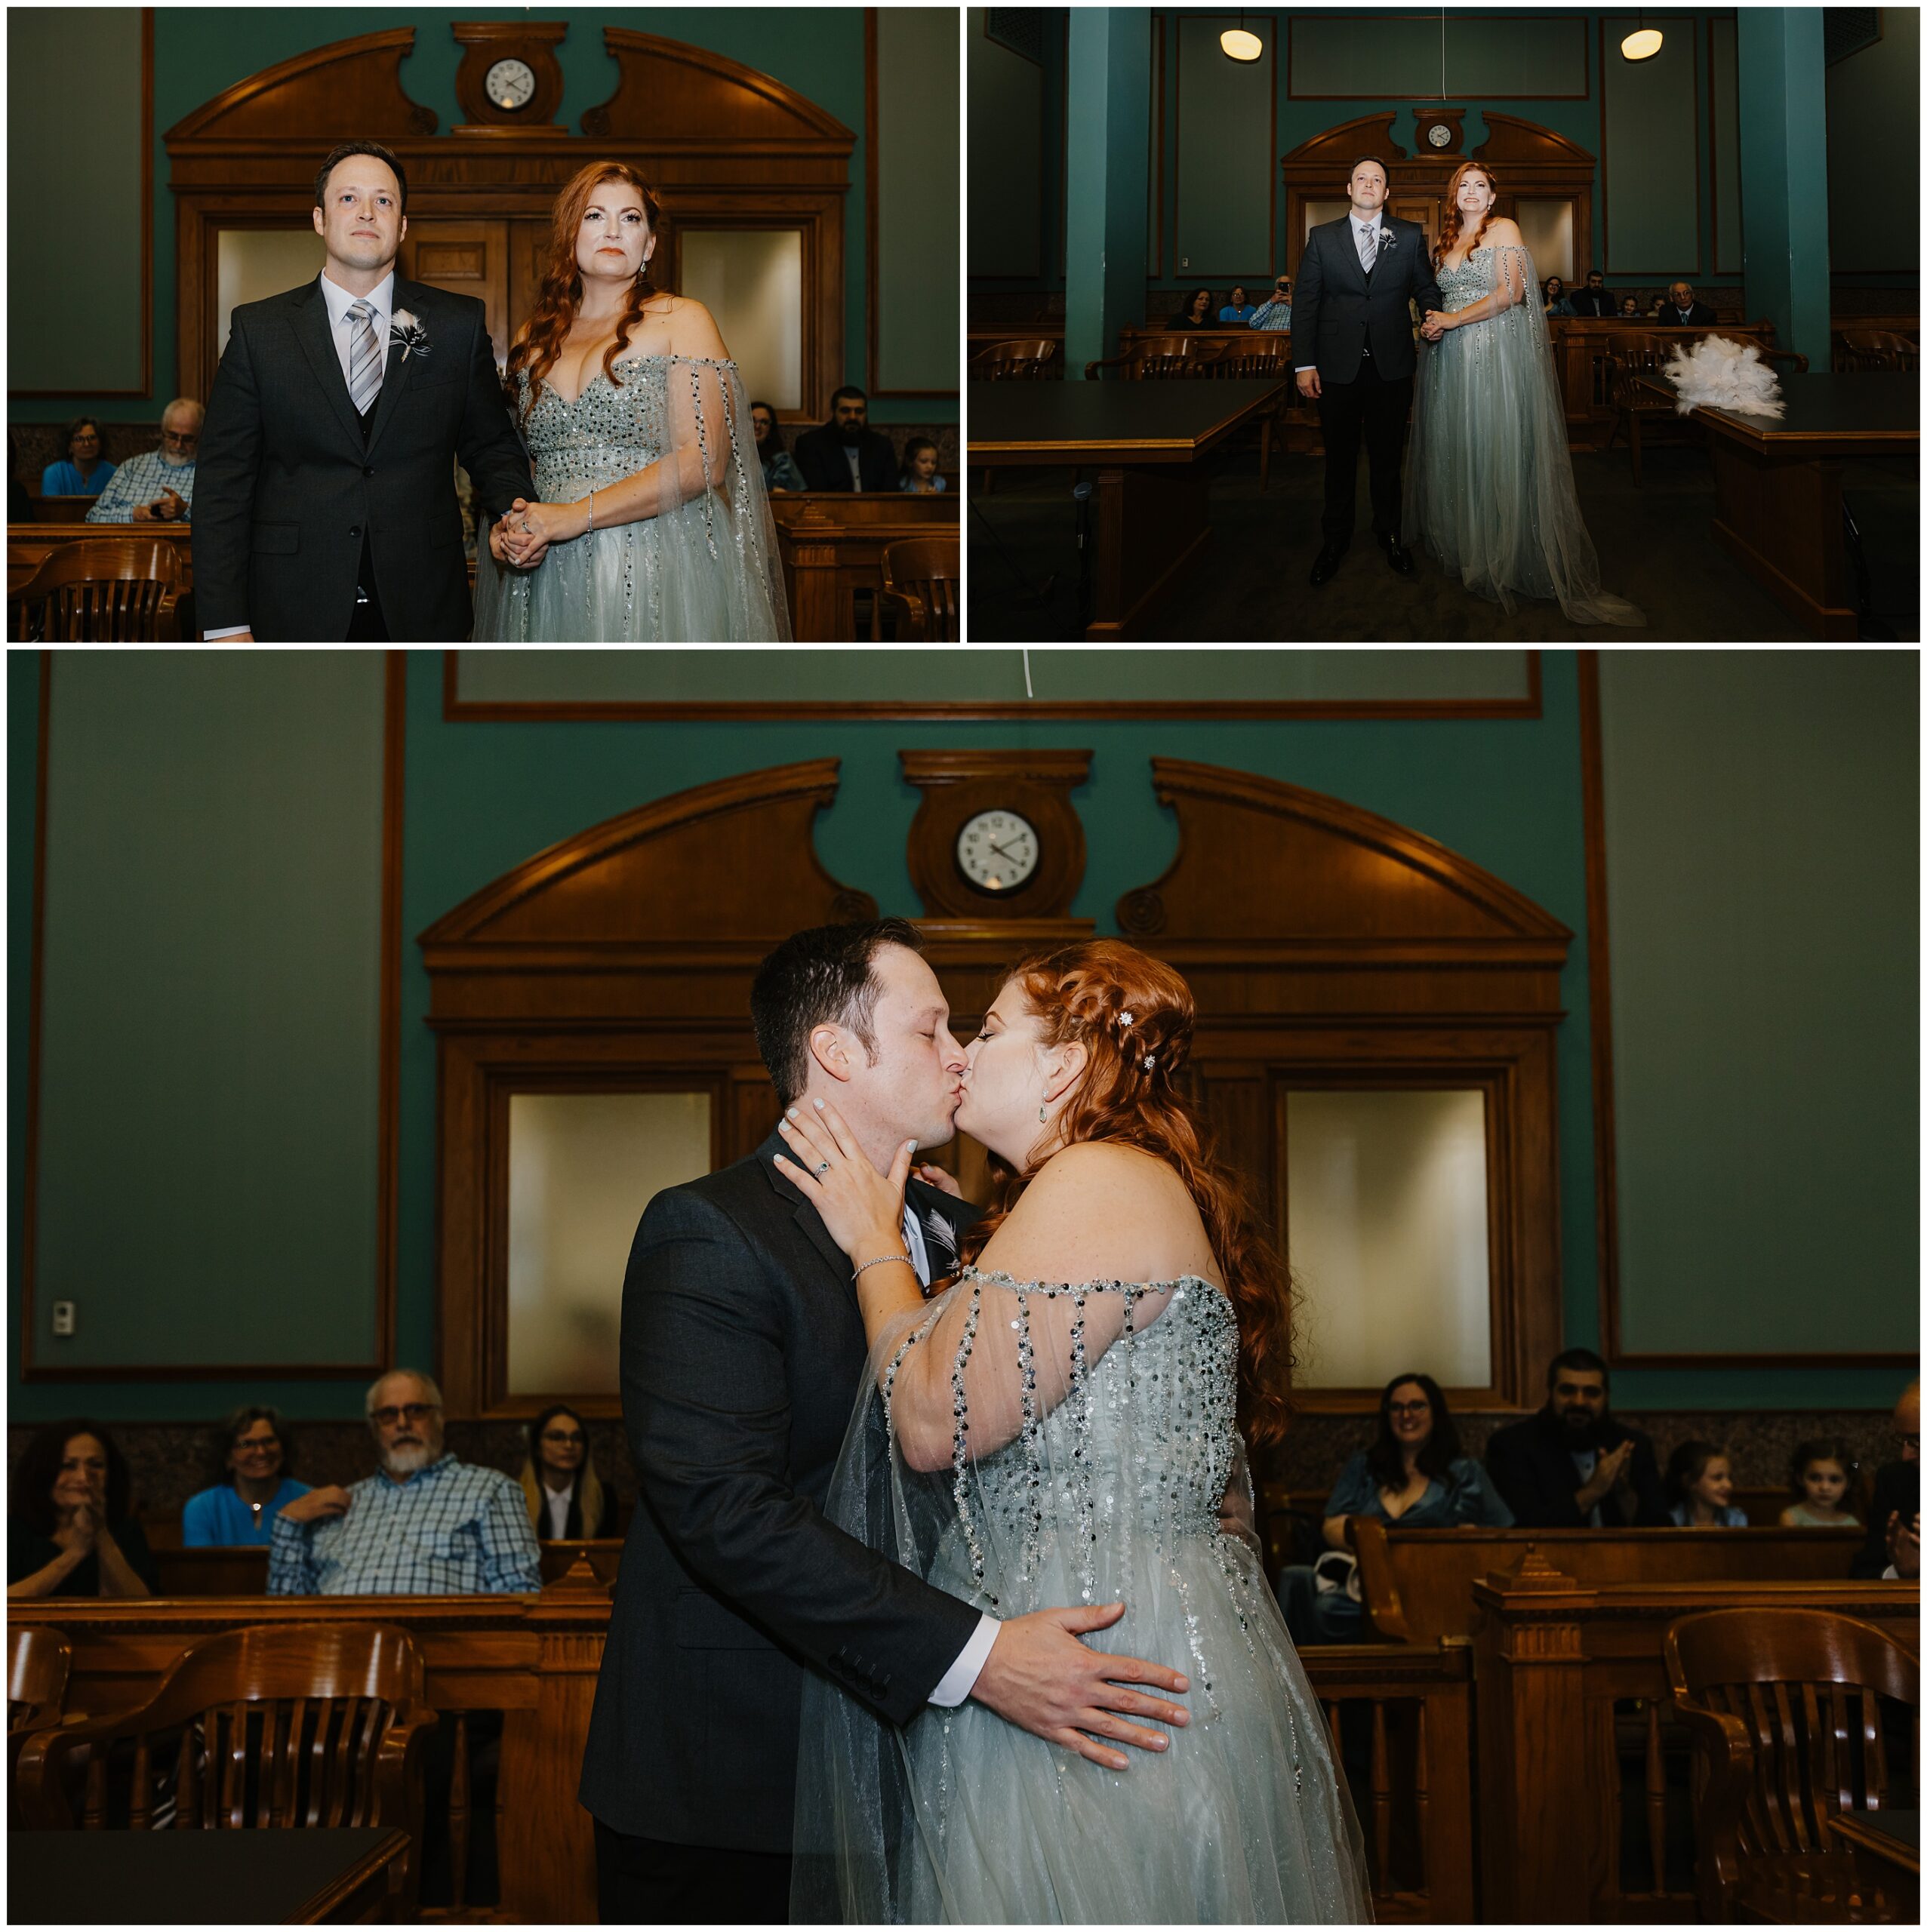
[[[1283,388],[1237,383],[972,383],[974,468],[1094,468],[1096,585],[1084,626],[1107,643],[1177,582],[1210,543],[1202,458]]]

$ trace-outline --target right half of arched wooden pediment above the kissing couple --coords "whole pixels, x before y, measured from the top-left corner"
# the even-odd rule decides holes
[[[1343,1005],[1438,1010],[1465,993],[1440,968],[1496,970],[1515,1010],[1523,993],[1558,1005],[1567,927],[1436,838],[1247,771],[1154,757],[1152,777],[1177,811],[1177,858],[1117,902],[1117,923],[1154,951],[1297,962],[1343,987]],[[1392,995],[1397,981],[1409,989]]]

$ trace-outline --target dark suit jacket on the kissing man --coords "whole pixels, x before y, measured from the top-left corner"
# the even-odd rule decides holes
[[[804,1669],[893,1723],[978,1627],[821,1517],[864,1374],[850,1264],[756,1153],[657,1194],[622,1283],[622,1422],[642,1490],[580,1797],[632,1837],[791,1849]],[[932,1269],[963,1202],[910,1182]]]

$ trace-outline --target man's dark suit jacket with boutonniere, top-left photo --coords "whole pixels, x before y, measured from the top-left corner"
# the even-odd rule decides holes
[[[201,425],[193,593],[201,630],[263,641],[348,636],[363,539],[388,636],[462,641],[474,614],[454,462],[491,514],[532,495],[528,452],[474,296],[394,280],[427,344],[388,344],[363,425],[321,278],[234,311]],[[363,433],[365,431],[365,433]]]

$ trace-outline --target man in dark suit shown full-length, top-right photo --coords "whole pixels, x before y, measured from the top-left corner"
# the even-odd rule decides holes
[[[1359,500],[1359,437],[1372,471],[1372,535],[1386,562],[1413,574],[1399,543],[1399,458],[1411,415],[1411,309],[1444,309],[1424,230],[1386,216],[1386,164],[1361,156],[1351,170],[1351,209],[1314,228],[1299,257],[1291,354],[1299,390],[1318,404],[1324,431],[1324,547],[1312,583],[1328,583],[1351,545]]]

